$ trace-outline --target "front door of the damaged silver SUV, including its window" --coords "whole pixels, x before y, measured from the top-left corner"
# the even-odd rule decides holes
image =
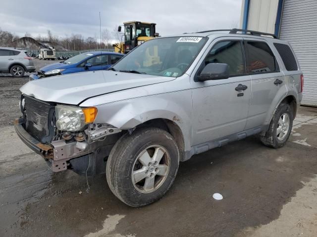
[[[230,77],[193,81],[192,145],[241,132],[248,118],[251,77],[245,75],[242,40],[220,39],[213,43],[196,75],[209,63],[226,63]]]

